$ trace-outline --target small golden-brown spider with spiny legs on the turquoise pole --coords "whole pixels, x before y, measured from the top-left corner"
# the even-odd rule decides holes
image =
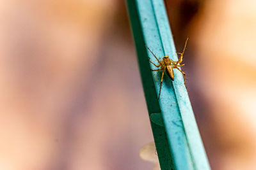
[[[160,90],[159,90],[159,96],[158,99],[160,97],[161,94],[161,87],[162,87],[162,83],[163,83],[163,78],[164,78],[164,71],[166,72],[166,74],[172,79],[174,80],[174,74],[173,74],[173,69],[178,69],[184,76],[184,85],[186,87],[186,83],[185,83],[185,78],[186,78],[186,73],[184,73],[180,67],[185,66],[185,64],[182,64],[182,60],[183,60],[183,55],[184,55],[184,51],[186,49],[187,43],[188,43],[188,39],[186,40],[185,46],[183,48],[183,52],[182,53],[178,53],[180,54],[180,58],[177,61],[173,61],[172,59],[170,59],[168,56],[164,56],[163,59],[157,59],[156,55],[154,55],[154,53],[148,48],[148,46],[146,46],[148,48],[148,50],[150,51],[150,53],[152,53],[152,55],[154,55],[154,57],[156,58],[157,62],[159,63],[158,65],[155,64],[154,62],[152,62],[150,59],[149,61],[154,64],[154,66],[156,67],[160,67],[160,69],[151,69],[151,71],[162,71],[162,76],[161,76],[161,83],[160,83]]]

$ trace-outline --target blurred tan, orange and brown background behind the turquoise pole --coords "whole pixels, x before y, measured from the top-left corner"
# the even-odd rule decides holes
[[[166,0],[212,169],[256,169],[256,1]],[[125,1],[0,1],[0,169],[152,169]]]

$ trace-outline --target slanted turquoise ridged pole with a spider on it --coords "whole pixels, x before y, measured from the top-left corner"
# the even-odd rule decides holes
[[[141,80],[161,169],[211,169],[202,143],[182,74],[174,69],[175,80],[164,75],[161,97],[161,71],[150,64],[147,45],[157,57],[168,55],[177,61],[163,0],[127,0],[138,55]]]

